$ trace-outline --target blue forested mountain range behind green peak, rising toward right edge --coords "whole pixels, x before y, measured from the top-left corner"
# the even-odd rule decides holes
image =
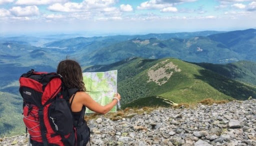
[[[238,33],[239,32],[239,33]],[[71,55],[79,58],[83,65],[108,64],[131,56],[144,58],[174,57],[189,62],[228,63],[238,60],[256,61],[255,29],[218,33],[210,36],[196,36],[187,39],[170,38],[159,40],[130,39],[102,46],[92,52],[78,50]],[[227,34],[232,35],[227,39]],[[218,36],[221,38],[219,41]],[[235,40],[236,43],[231,43]]]

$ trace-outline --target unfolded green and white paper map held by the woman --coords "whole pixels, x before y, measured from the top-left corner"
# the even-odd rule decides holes
[[[84,72],[83,83],[90,97],[104,106],[112,101],[117,93],[117,70],[106,72]],[[109,112],[116,112],[114,106]],[[94,113],[86,108],[85,113]]]

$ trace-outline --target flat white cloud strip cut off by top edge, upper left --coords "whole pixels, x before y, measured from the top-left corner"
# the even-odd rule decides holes
[[[67,0],[17,0],[15,4],[19,5],[42,5],[66,2]]]

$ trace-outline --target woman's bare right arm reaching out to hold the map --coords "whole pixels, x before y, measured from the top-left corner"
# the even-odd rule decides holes
[[[87,107],[89,110],[99,113],[99,114],[106,114],[109,112],[116,104],[117,100],[112,100],[109,104],[105,106],[101,106],[97,102],[95,102],[87,93],[81,92],[79,95],[81,98],[81,103]],[[120,95],[117,93],[115,95],[119,100],[121,99]]]

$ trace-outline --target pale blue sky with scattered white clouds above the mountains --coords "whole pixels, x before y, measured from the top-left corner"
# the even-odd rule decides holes
[[[256,0],[0,0],[0,34],[256,28]]]

